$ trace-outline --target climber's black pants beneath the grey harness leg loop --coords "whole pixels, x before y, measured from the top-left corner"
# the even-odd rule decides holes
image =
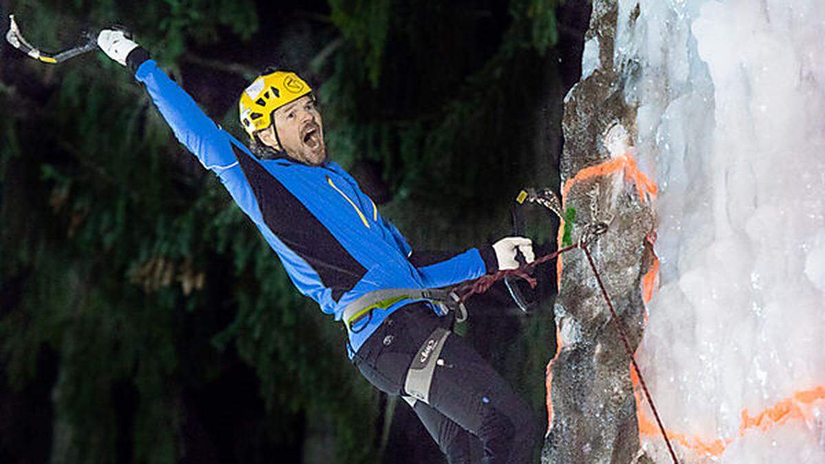
[[[413,356],[431,332],[450,324],[418,303],[396,311],[361,346],[356,366],[389,395],[403,391]],[[534,415],[479,353],[455,334],[441,351],[430,389],[430,404],[413,409],[450,463],[471,462],[473,440],[483,446],[483,462],[530,462],[539,444]]]

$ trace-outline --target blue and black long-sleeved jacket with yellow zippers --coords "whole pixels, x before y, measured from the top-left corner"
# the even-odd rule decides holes
[[[335,320],[370,291],[450,286],[497,270],[489,246],[437,262],[417,259],[403,235],[337,163],[257,159],[215,125],[145,50],[135,49],[127,63],[177,140],[217,174],[261,231],[295,287]],[[350,356],[388,315],[412,302],[398,301],[359,321],[361,327],[349,332]]]

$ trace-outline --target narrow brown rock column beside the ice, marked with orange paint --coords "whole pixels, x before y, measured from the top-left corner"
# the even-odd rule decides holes
[[[641,281],[653,265],[655,186],[635,167],[636,108],[625,105],[613,63],[616,0],[593,2],[582,81],[565,98],[563,207],[585,225],[610,222],[590,244],[596,267],[635,349],[642,337]],[[632,65],[632,64],[630,64]],[[572,222],[572,224],[571,224]],[[558,353],[548,367],[550,430],[542,462],[639,462],[639,430],[629,358],[580,250],[563,255],[556,301]]]

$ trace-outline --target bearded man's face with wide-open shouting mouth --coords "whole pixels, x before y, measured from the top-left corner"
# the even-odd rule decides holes
[[[257,133],[264,144],[277,149],[278,141],[273,126],[277,128],[278,138],[283,144],[280,148],[290,158],[313,166],[327,160],[321,113],[309,95],[278,108],[272,115],[272,125]]]

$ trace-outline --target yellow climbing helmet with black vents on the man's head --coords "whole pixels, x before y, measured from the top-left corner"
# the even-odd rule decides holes
[[[312,88],[296,73],[276,71],[259,76],[241,93],[238,101],[243,129],[252,137],[258,130],[269,127],[272,111],[309,93]]]

